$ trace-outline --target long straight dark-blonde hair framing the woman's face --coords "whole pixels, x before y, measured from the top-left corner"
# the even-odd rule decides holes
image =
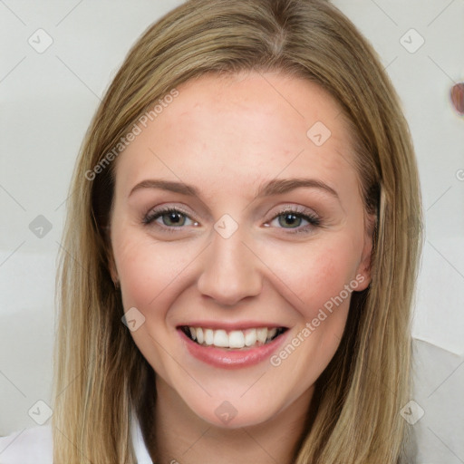
[[[316,382],[294,462],[402,462],[400,411],[410,399],[422,208],[398,96],[370,43],[324,0],[190,0],[132,47],[73,171],[56,288],[55,464],[135,464],[132,408],[145,439],[156,433],[155,373],[121,323],[121,293],[109,271],[114,163],[108,153],[180,83],[247,70],[303,77],[333,95],[353,132],[365,209],[377,215],[371,284],[353,292],[343,339]]]

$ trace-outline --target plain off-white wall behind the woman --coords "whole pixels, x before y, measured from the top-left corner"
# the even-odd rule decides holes
[[[0,435],[35,426],[30,408],[51,403],[55,259],[84,131],[131,44],[180,3],[0,1]],[[415,427],[435,449],[427,462],[464,462],[464,118],[449,102],[464,81],[464,0],[333,3],[380,54],[410,123],[426,220]],[[43,53],[28,43],[39,28],[53,39]],[[415,53],[403,46],[420,37]],[[42,238],[29,228],[39,215],[52,225]]]

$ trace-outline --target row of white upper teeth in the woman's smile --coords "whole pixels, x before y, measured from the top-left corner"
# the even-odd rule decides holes
[[[267,327],[246,330],[204,329],[202,327],[189,327],[190,335],[199,344],[214,345],[219,348],[243,348],[255,344],[264,344],[275,337],[277,329]]]

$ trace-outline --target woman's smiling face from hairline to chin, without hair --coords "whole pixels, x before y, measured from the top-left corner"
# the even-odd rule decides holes
[[[177,90],[117,160],[111,272],[160,401],[258,424],[309,401],[369,285],[352,142],[312,82],[204,75]]]

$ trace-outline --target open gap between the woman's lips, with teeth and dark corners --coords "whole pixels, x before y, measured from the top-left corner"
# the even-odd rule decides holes
[[[228,350],[246,350],[263,346],[273,342],[287,330],[286,327],[256,327],[246,330],[226,331],[189,325],[182,325],[179,328],[190,340],[201,346]]]

